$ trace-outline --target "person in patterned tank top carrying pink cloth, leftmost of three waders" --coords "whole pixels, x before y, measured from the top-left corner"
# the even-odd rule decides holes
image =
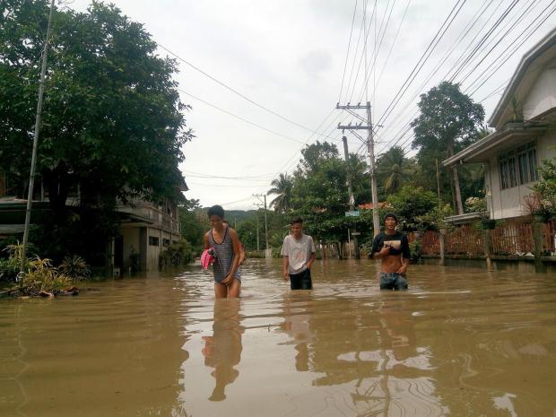
[[[239,297],[241,271],[239,270],[239,239],[236,230],[223,223],[224,209],[213,205],[208,211],[213,229],[204,234],[204,248],[213,249],[214,297]]]

